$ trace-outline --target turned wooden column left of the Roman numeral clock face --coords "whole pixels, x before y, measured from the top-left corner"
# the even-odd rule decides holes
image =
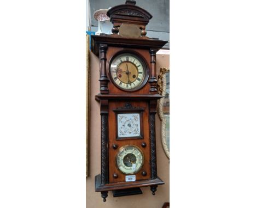
[[[108,82],[107,66],[106,66],[106,52],[108,46],[106,44],[100,44],[100,92],[101,94],[108,94]]]

